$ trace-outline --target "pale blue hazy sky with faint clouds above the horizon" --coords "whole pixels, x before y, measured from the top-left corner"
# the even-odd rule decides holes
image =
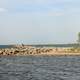
[[[0,44],[74,43],[80,0],[0,0]]]

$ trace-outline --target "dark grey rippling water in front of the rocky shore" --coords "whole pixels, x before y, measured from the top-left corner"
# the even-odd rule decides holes
[[[80,80],[80,57],[0,57],[0,80]]]

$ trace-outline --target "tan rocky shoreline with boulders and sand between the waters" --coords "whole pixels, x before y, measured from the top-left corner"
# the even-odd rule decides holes
[[[14,48],[0,49],[0,56],[27,56],[27,55],[80,55],[77,48],[50,48],[17,45]]]

